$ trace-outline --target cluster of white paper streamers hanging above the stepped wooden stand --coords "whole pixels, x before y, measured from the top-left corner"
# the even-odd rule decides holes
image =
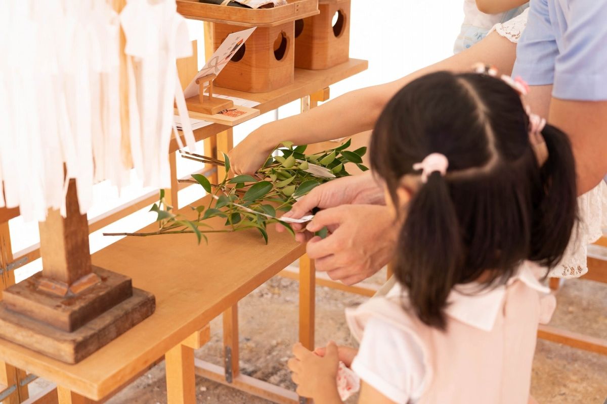
[[[129,131],[120,105],[120,27],[127,38]],[[80,210],[92,187],[168,187],[176,58],[191,43],[175,0],[129,0],[119,16],[107,0],[0,1],[0,208],[26,220],[65,211],[76,179]],[[185,103],[184,103],[185,104]],[[187,111],[180,111],[189,122]],[[191,128],[184,128],[194,148]],[[123,150],[124,139],[130,148]],[[126,165],[130,153],[133,167]],[[128,154],[127,154],[128,155]]]

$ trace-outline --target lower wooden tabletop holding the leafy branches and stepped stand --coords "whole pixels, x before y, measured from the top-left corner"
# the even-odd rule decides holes
[[[181,213],[191,215],[191,209]],[[225,221],[212,220],[214,228]],[[156,228],[152,224],[141,231]],[[288,233],[276,233],[274,226],[268,236],[268,245],[256,230],[208,234],[208,245],[197,245],[194,234],[121,239],[93,254],[93,264],[131,276],[135,287],[153,293],[157,308],[151,317],[77,365],[4,340],[0,359],[90,399],[103,399],[305,252],[304,245]]]

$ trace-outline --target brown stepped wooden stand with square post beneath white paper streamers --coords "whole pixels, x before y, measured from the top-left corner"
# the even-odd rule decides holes
[[[77,363],[151,316],[155,298],[131,278],[92,265],[73,179],[66,207],[66,217],[51,210],[39,224],[42,272],[3,292],[0,337]]]

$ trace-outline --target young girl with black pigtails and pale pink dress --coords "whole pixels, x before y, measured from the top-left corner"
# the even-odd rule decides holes
[[[512,82],[433,73],[388,103],[371,165],[401,227],[398,283],[347,311],[358,353],[294,347],[301,396],[341,403],[341,360],[360,403],[528,402],[537,325],[554,309],[537,277],[568,244],[576,184],[568,137],[529,116]]]

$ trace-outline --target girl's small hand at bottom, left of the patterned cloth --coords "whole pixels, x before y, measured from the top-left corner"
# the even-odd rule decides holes
[[[288,366],[300,397],[314,398],[319,402],[334,402],[335,397],[339,399],[336,382],[339,357],[334,342],[328,343],[324,356],[309,351],[299,342],[293,346],[293,354],[295,357],[289,360]]]

